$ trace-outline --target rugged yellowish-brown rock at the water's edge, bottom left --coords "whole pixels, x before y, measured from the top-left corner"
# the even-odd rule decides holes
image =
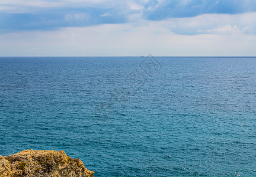
[[[81,160],[69,158],[63,150],[23,150],[0,156],[0,177],[91,177],[93,174]]]

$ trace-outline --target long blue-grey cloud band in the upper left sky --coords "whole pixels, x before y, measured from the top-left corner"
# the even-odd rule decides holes
[[[107,15],[108,14],[108,15]],[[0,12],[0,31],[55,30],[127,21],[124,12],[111,8],[52,8],[29,13]]]

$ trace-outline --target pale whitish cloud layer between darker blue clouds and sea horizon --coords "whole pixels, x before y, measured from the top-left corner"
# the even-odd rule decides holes
[[[129,15],[128,23],[2,33],[0,53],[16,56],[256,55],[255,12],[146,21],[140,10],[144,2],[129,3],[136,13]],[[101,14],[102,17],[109,15],[111,12]],[[64,17],[68,22],[90,18],[82,12],[67,13]]]

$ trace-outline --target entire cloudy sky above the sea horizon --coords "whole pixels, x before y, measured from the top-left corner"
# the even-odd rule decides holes
[[[1,0],[0,56],[256,56],[255,0]]]

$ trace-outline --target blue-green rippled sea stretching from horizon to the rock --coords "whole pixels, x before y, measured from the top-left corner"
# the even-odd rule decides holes
[[[95,176],[256,176],[256,58],[155,59],[0,57],[0,155],[65,150]]]

